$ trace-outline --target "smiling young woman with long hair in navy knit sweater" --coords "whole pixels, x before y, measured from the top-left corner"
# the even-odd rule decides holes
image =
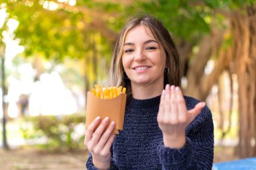
[[[177,48],[158,19],[135,17],[125,25],[109,75],[110,85],[127,88],[124,129],[111,134],[111,122],[103,133],[108,118],[88,126],[87,169],[212,169],[212,114],[183,96]]]

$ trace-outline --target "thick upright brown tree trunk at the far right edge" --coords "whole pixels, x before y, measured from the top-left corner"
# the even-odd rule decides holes
[[[232,13],[232,38],[234,41],[234,67],[238,77],[239,144],[241,158],[253,157],[255,153],[255,9],[248,13]]]

